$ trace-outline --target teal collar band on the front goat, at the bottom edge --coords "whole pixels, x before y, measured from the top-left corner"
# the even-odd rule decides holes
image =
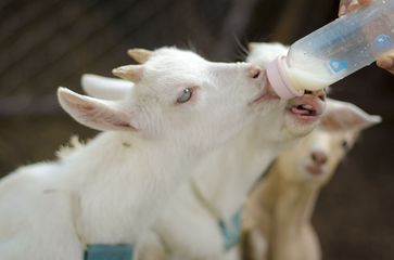
[[[84,260],[132,260],[132,245],[88,245]]]

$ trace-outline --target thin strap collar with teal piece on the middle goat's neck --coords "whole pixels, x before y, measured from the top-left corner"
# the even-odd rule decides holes
[[[209,211],[212,216],[217,219],[218,227],[220,229],[220,233],[223,235],[225,242],[226,251],[230,250],[241,239],[241,217],[242,217],[242,208],[237,210],[237,212],[231,217],[229,222],[226,222],[216,208],[214,208],[204,197],[204,195],[199,190],[196,183],[191,180],[190,185],[194,195],[199,198],[200,203]]]

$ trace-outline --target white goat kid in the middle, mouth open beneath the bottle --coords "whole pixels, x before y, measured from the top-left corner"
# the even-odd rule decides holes
[[[268,56],[262,58],[258,65],[265,66],[285,51],[283,46],[280,47],[279,51],[276,44],[258,50],[258,54],[264,52]],[[101,90],[109,82],[105,80],[109,79],[86,76],[82,86],[88,93],[105,98],[105,92],[111,92],[111,86],[104,92]],[[124,84],[119,80],[112,83],[116,84],[114,89],[120,89]],[[124,87],[126,90],[130,88]],[[289,102],[271,96],[269,106],[257,120],[204,156],[195,169],[187,169],[193,172],[191,183],[182,185],[176,193],[153,232],[141,243],[139,258],[233,257],[236,251],[227,253],[227,250],[238,242],[240,226],[237,226],[237,221],[247,192],[283,147],[312,131],[322,113],[323,99],[323,92],[309,93]]]

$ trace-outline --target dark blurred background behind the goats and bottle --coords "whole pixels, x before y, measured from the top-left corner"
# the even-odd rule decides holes
[[[249,41],[292,43],[336,17],[339,0],[1,0],[0,176],[54,158],[72,134],[58,86],[80,92],[84,73],[111,76],[126,50],[177,46],[240,61]],[[323,259],[394,259],[394,76],[371,65],[331,96],[381,115],[323,190],[314,224]]]

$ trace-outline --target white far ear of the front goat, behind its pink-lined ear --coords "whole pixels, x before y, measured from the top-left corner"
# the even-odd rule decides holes
[[[124,79],[85,74],[80,80],[82,90],[90,96],[103,100],[123,100],[134,83]]]

